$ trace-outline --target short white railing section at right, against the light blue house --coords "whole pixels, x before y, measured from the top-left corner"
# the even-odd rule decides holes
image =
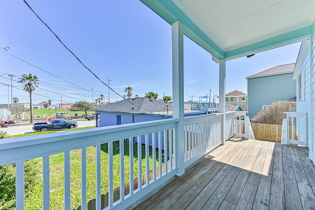
[[[281,143],[307,147],[307,113],[284,112]]]

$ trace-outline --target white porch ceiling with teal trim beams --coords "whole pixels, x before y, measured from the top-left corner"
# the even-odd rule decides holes
[[[233,59],[303,40],[311,34],[314,0],[141,0],[216,59]]]

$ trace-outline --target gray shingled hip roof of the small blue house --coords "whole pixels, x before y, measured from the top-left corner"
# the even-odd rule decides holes
[[[131,102],[131,103],[130,103]],[[149,98],[126,98],[108,105],[97,107],[92,111],[101,112],[125,112],[125,113],[153,113],[166,111],[166,103],[152,100]],[[173,110],[173,105],[168,104],[168,110]]]

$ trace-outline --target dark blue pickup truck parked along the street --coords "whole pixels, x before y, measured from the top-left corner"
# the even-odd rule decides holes
[[[67,121],[63,119],[52,119],[48,122],[35,122],[33,130],[35,131],[48,131],[48,130],[62,130],[67,128],[75,128],[78,126],[76,121]]]

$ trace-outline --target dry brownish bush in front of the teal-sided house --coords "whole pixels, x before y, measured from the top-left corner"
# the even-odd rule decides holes
[[[296,102],[293,100],[275,101],[266,109],[261,110],[251,121],[265,124],[282,124],[282,120],[286,118],[284,112],[296,112]]]

